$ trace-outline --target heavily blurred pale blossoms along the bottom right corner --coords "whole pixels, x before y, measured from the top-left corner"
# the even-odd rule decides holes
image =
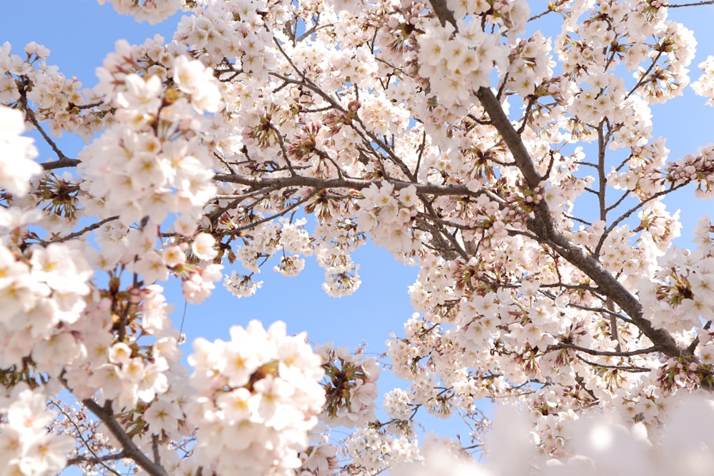
[[[424,445],[423,460],[397,464],[396,475],[508,476],[528,474],[564,476],[595,475],[707,475],[714,458],[712,438],[706,430],[714,417],[712,400],[706,394],[682,395],[668,407],[666,431],[642,422],[626,422],[607,412],[599,417],[571,415],[560,427],[567,439],[555,457],[533,456],[542,442],[531,432],[528,417],[516,407],[499,408],[488,439],[486,462],[476,464],[459,455],[445,442]],[[516,457],[518,455],[518,457]]]

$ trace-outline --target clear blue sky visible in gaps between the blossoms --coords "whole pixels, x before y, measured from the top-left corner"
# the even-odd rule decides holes
[[[531,4],[539,4],[535,1]],[[542,2],[545,3],[545,2]],[[77,76],[84,86],[94,86],[94,69],[104,56],[114,51],[116,39],[132,44],[159,33],[171,38],[180,16],[163,24],[137,24],[134,19],[119,16],[109,4],[93,0],[25,0],[4,1],[0,15],[0,44],[10,41],[17,54],[24,44],[36,41],[51,49],[49,64],[57,64],[66,76]],[[692,69],[709,54],[714,54],[714,34],[710,26],[712,7],[674,9],[671,17],[684,21],[695,30],[700,46]],[[693,79],[698,73],[693,71]],[[703,99],[690,89],[685,98],[665,106],[655,106],[655,136],[668,137],[670,158],[693,152],[712,141],[714,108],[703,106]],[[76,156],[82,143],[71,138],[59,141],[68,156]],[[42,143],[38,141],[38,145]],[[41,147],[41,160],[51,158],[51,151]],[[686,245],[690,230],[703,213],[712,213],[711,202],[694,201],[693,188],[678,193],[669,208],[683,209],[683,233],[680,245]],[[361,264],[361,288],[352,296],[333,299],[321,290],[323,271],[308,259],[306,270],[298,278],[284,278],[271,267],[261,273],[263,288],[251,298],[236,299],[219,285],[213,297],[203,305],[188,305],[183,331],[190,343],[193,338],[227,338],[233,324],[245,324],[258,318],[265,325],[285,320],[291,332],[308,331],[313,343],[333,341],[354,348],[363,340],[368,351],[381,353],[389,333],[401,335],[402,324],[413,313],[407,287],[416,278],[417,269],[398,263],[391,255],[373,245],[358,250],[353,256]],[[181,319],[183,299],[176,283],[165,283],[169,299],[176,305],[174,317]],[[178,321],[176,321],[178,326]],[[191,353],[188,345],[185,354]],[[381,385],[381,392],[392,388],[393,380]]]

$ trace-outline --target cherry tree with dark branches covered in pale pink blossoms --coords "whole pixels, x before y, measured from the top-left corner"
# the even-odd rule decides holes
[[[714,1],[110,2],[185,15],[94,88],[0,49],[0,475],[710,474],[714,227],[678,248],[666,203],[714,195],[714,144],[670,158],[651,111],[714,106],[669,19]],[[385,362],[251,321],[183,365],[162,282],[307,258],[339,297],[368,238],[419,269]]]

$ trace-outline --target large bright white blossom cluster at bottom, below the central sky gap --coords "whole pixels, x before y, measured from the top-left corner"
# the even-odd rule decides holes
[[[198,338],[189,357],[196,400],[188,417],[198,429],[197,464],[219,475],[289,475],[308,446],[325,401],[321,358],[304,333],[268,330],[256,320],[233,326],[231,340]]]

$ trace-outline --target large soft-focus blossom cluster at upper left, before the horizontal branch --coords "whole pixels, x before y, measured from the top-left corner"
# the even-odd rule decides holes
[[[98,88],[111,91],[121,120],[80,153],[84,191],[125,225],[144,216],[155,223],[168,213],[195,216],[216,193],[212,161],[197,133],[198,113],[220,106],[218,83],[199,61],[178,56],[171,64],[172,95],[161,73],[126,74],[136,51],[126,42],[116,46],[99,71]]]

